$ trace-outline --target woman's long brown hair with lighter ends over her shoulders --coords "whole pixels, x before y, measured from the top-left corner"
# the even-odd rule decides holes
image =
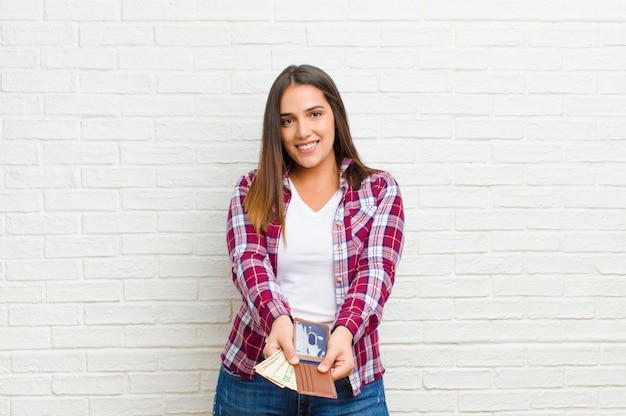
[[[311,65],[291,65],[276,78],[265,104],[263,135],[257,175],[244,200],[248,219],[257,232],[266,231],[267,224],[276,221],[284,226],[283,173],[293,163],[281,140],[280,100],[291,85],[312,85],[324,93],[335,117],[335,142],[333,150],[337,168],[344,158],[354,163],[346,171],[346,178],[354,189],[374,170],[361,162],[352,141],[348,116],[339,90],[332,78],[324,71]]]

